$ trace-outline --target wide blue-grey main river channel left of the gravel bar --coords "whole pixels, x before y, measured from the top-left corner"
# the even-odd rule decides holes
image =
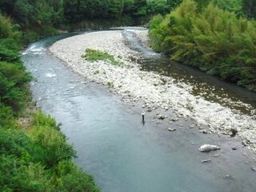
[[[255,191],[256,172],[250,169],[255,164],[254,155],[237,138],[206,136],[196,129],[170,134],[147,119],[143,124],[138,108],[122,102],[102,85],[82,79],[50,55],[47,48],[70,35],[31,44],[22,53],[22,60],[34,76],[34,100],[62,122],[62,132],[78,151],[74,162],[94,175],[103,192]],[[184,75],[182,71],[178,72]],[[222,90],[222,85],[218,88]],[[254,103],[240,96],[241,100],[246,98]],[[184,120],[184,127],[190,121]],[[218,142],[222,143],[221,151],[198,151],[204,143]],[[234,143],[239,150],[230,150]],[[212,161],[202,163],[204,159]]]

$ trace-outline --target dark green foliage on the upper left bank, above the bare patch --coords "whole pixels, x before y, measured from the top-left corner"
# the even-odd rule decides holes
[[[0,14],[0,106],[17,114],[26,104],[30,75],[20,60],[18,39],[8,18]],[[0,122],[2,122],[0,116]],[[1,123],[0,123],[1,126]]]

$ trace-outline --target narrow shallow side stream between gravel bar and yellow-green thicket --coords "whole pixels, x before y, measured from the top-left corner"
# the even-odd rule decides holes
[[[190,84],[193,86],[191,93],[194,96],[203,96],[206,100],[217,102],[222,106],[256,115],[256,92],[223,81],[217,76],[209,76],[199,69],[170,61],[168,57],[146,49],[136,38],[134,30],[127,29],[123,35],[130,49],[142,53],[142,70],[158,72],[164,76],[173,77],[177,82]]]

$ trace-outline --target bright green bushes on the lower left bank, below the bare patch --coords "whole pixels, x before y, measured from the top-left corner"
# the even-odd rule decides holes
[[[74,166],[73,148],[50,116],[32,113],[22,128],[0,128],[1,191],[99,191],[93,178]]]

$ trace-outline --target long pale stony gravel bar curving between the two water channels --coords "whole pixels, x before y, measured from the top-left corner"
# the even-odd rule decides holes
[[[139,37],[145,42],[146,31],[140,32]],[[122,62],[122,66],[110,65],[106,61],[86,61],[81,57],[86,48],[110,53]],[[192,118],[196,125],[190,127],[199,127],[204,133],[232,135],[237,131],[242,143],[256,153],[255,110],[251,110],[250,115],[243,114],[207,101],[202,96],[194,96],[190,84],[174,82],[172,77],[155,72],[141,71],[137,61],[142,56],[126,46],[122,31],[69,37],[56,42],[50,52],[87,80],[104,84],[122,100],[141,106],[146,113],[151,113],[150,116],[155,116],[157,123],[168,120],[166,131],[179,117]]]

